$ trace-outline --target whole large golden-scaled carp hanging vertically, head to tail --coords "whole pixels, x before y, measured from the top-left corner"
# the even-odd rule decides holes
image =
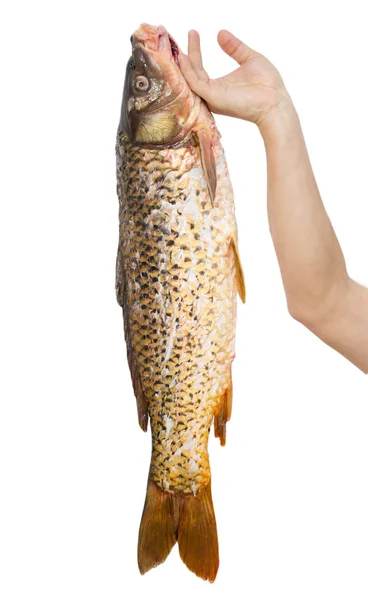
[[[141,573],[173,545],[214,581],[219,565],[207,451],[225,444],[236,291],[245,301],[233,192],[212,114],[163,26],[131,37],[117,134],[116,293],[139,424],[152,456],[138,540]]]

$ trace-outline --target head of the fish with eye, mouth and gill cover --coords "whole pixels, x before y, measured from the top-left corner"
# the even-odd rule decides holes
[[[175,145],[192,128],[200,104],[180,71],[178,45],[165,27],[147,24],[131,43],[119,132],[138,145]]]

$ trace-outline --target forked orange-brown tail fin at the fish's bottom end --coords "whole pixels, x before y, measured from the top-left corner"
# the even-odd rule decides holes
[[[163,563],[176,541],[188,569],[212,583],[219,554],[211,483],[196,496],[163,492],[148,483],[138,541],[142,575]]]

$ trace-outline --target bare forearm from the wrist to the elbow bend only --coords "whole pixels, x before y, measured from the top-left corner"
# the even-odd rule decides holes
[[[346,286],[345,260],[323,206],[291,101],[260,125],[267,154],[268,216],[290,312],[331,309]]]

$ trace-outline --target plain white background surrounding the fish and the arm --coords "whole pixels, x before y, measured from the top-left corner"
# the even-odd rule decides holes
[[[4,5],[3,5],[4,6]],[[218,118],[236,194],[239,306],[228,443],[212,440],[221,566],[177,548],[144,577],[150,459],[114,296],[115,133],[129,37],[228,28],[281,71],[352,277],[368,284],[367,19],[359,0],[8,2],[1,44],[0,597],[368,597],[366,378],[287,313],[255,126]]]

